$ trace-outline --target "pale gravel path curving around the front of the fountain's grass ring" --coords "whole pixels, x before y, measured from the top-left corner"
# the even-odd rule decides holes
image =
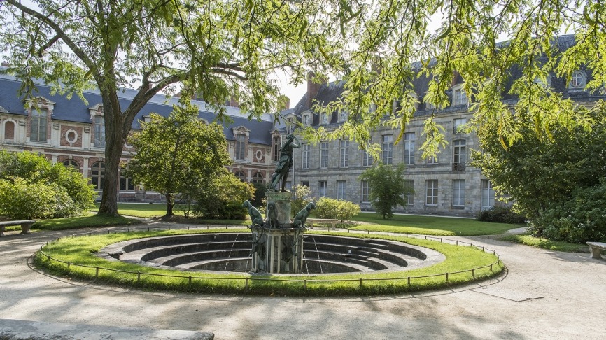
[[[194,330],[215,339],[606,339],[606,260],[585,253],[461,237],[496,250],[507,272],[416,295],[241,297],[105,287],[29,265],[43,242],[72,233],[0,239],[0,318]]]

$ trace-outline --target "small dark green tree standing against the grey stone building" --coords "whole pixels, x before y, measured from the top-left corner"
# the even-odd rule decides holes
[[[370,204],[383,219],[393,216],[393,208],[406,205],[404,194],[409,192],[404,180],[404,164],[397,166],[379,163],[378,166],[362,172],[360,180],[368,182]]]

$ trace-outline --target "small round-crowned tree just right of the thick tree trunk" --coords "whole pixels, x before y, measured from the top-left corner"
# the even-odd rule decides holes
[[[174,194],[209,185],[231,164],[223,127],[200,120],[197,106],[186,97],[181,97],[167,118],[152,113],[141,127],[129,138],[136,153],[125,174],[164,194],[166,217],[173,215]]]

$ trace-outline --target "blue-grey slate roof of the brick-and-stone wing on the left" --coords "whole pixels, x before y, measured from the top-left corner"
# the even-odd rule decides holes
[[[24,97],[17,96],[17,91],[21,85],[20,80],[15,79],[13,76],[0,75],[0,106],[6,111],[18,115],[27,115],[27,111],[24,109]],[[53,111],[52,119],[64,120],[67,122],[80,122],[80,123],[91,123],[89,108],[101,104],[101,95],[99,91],[88,90],[84,92],[84,97],[88,101],[88,104],[84,104],[79,97],[73,96],[71,99],[60,96],[59,94],[50,94],[50,87],[43,84],[38,84],[38,93],[36,96],[45,97],[50,101],[55,102],[55,110]],[[125,89],[120,91],[118,97],[120,98],[120,106],[126,108],[136,95],[136,90]],[[164,117],[167,117],[171,111],[172,106],[178,103],[178,98],[167,98],[163,94],[155,95],[149,102],[144,106],[139,113],[137,113],[134,122],[132,124],[133,129],[141,129],[140,121],[143,117],[150,113],[158,113]],[[208,122],[212,122],[216,118],[216,113],[211,111],[206,106],[204,101],[192,101],[192,104],[199,106],[199,118],[202,118]],[[239,108],[227,107],[227,115],[233,120],[229,125],[223,125],[223,133],[227,140],[234,140],[234,134],[232,127],[244,126],[250,130],[249,142],[260,143],[265,145],[272,144],[272,131],[274,125],[271,117],[267,114],[264,115],[260,121],[248,120],[243,114],[239,112]]]

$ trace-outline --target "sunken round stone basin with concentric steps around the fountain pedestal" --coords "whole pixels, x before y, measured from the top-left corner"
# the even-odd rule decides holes
[[[402,271],[445,260],[428,248],[381,239],[308,234],[302,274]],[[114,243],[97,255],[108,260],[187,271],[251,270],[251,233],[212,233],[150,237]]]

